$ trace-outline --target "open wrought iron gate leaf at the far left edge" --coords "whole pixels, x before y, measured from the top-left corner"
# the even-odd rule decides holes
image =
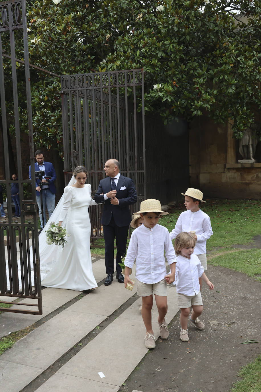
[[[21,34],[22,33],[22,34]],[[18,102],[18,87],[16,73],[16,49],[20,49],[24,58],[24,80],[27,100],[27,116],[29,131],[29,149],[31,156],[31,167],[34,168],[34,145],[32,131],[32,111],[31,111],[31,89],[29,75],[29,56],[28,56],[28,39],[27,39],[27,20],[25,10],[25,0],[10,0],[0,2],[0,96],[2,110],[2,134],[4,145],[4,178],[0,180],[7,196],[7,218],[0,220],[0,310],[6,312],[18,312],[28,314],[42,314],[41,303],[41,283],[40,283],[40,264],[39,264],[39,245],[38,245],[38,221],[36,214],[36,187],[35,173],[32,170],[31,180],[22,179],[22,155],[20,145],[20,119]],[[23,48],[23,49],[22,49]],[[8,131],[10,119],[7,119],[5,107],[5,93],[7,92],[5,80],[5,70],[8,69],[10,60],[6,60],[5,54],[10,51],[13,86],[13,118],[16,137],[16,162],[17,173],[10,172],[9,162],[12,159],[9,156]],[[9,56],[10,57],[10,56]],[[10,82],[10,80],[9,80]],[[23,97],[22,97],[23,98]],[[23,98],[24,104],[24,98]],[[18,180],[11,180],[12,174],[18,174]],[[11,183],[18,183],[20,198],[20,219],[12,217],[12,198]],[[32,191],[32,200],[23,200],[24,184],[29,183]],[[30,216],[30,218],[28,217]],[[31,237],[31,238],[30,238]],[[30,256],[29,247],[32,239],[32,255]],[[6,243],[6,246],[5,246]],[[18,254],[20,255],[18,256]],[[19,260],[20,259],[20,260]],[[31,275],[32,274],[32,275]],[[19,302],[19,305],[38,307],[38,310],[23,310],[3,308],[1,304],[10,303],[4,301],[8,299],[27,298],[34,299]],[[36,308],[33,308],[36,309]]]

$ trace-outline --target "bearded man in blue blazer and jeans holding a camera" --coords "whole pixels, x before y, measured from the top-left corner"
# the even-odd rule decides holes
[[[52,163],[45,162],[43,151],[37,150],[35,152],[35,159],[36,163],[34,163],[34,169],[36,172],[44,171],[45,174],[42,180],[36,179],[36,201],[39,208],[39,216],[41,221],[41,229],[46,223],[46,213],[45,210],[47,209],[49,218],[54,212],[55,207],[55,185],[54,180],[56,179],[56,172]],[[49,180],[45,180],[45,177],[50,177]],[[29,166],[29,178],[31,180],[31,165]],[[39,186],[39,183],[42,183],[42,187]],[[41,190],[42,188],[42,190]],[[43,196],[43,216],[42,216],[42,209],[41,209],[41,196],[40,192],[42,192]],[[43,222],[44,220],[44,222]]]

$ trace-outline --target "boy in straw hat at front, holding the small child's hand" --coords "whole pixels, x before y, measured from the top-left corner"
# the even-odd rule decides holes
[[[161,215],[168,212],[161,210],[159,200],[148,199],[140,203],[140,211],[135,212],[144,219],[143,225],[131,234],[125,264],[124,285],[131,282],[130,269],[136,259],[137,294],[142,297],[142,319],[146,327],[144,343],[147,348],[155,347],[155,337],[151,325],[153,294],[158,308],[160,336],[167,339],[169,330],[165,321],[167,313],[167,284],[175,280],[176,254],[166,227],[158,225]],[[165,256],[171,273],[167,275]]]

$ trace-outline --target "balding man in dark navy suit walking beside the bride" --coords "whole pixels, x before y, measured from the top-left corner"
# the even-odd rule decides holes
[[[137,192],[133,180],[119,172],[120,164],[116,159],[109,159],[104,165],[107,178],[100,181],[94,196],[96,203],[104,203],[101,223],[105,241],[105,266],[107,278],[104,285],[113,281],[114,272],[114,238],[116,238],[116,279],[124,283],[122,269],[119,266],[121,256],[126,253],[128,229],[131,222],[129,205],[137,201]]]

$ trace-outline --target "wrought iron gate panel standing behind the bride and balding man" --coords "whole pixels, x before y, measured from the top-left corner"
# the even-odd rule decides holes
[[[135,183],[138,201],[131,212],[139,211],[146,198],[143,70],[64,75],[61,93],[65,182],[84,165],[96,191],[104,163],[115,158]],[[101,205],[90,209],[92,239],[102,236],[101,212]]]

